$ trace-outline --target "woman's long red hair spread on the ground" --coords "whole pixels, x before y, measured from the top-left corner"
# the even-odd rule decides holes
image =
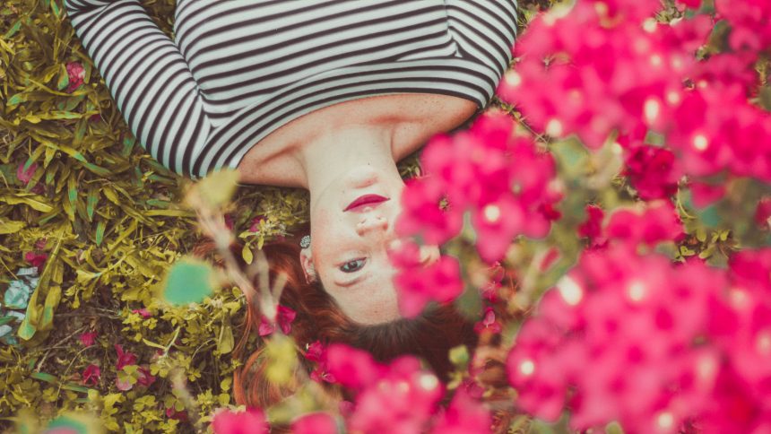
[[[211,251],[212,246],[196,248],[197,254]],[[240,257],[240,247],[232,247]],[[429,309],[420,317],[398,319],[379,325],[361,325],[342,313],[332,296],[320,284],[308,283],[299,263],[300,247],[296,239],[267,245],[263,248],[270,265],[270,281],[279,274],[286,276],[281,304],[297,312],[292,323],[291,336],[299,347],[307,343],[346,343],[366,350],[376,360],[388,361],[403,354],[412,354],[427,361],[437,377],[446,381],[452,371],[447,352],[461,344],[473,347],[477,335],[471,322],[452,306]],[[233,352],[241,359],[247,350],[251,334],[260,325],[260,314],[252,300],[247,299],[243,334]],[[304,357],[299,369],[313,368]],[[296,385],[277,386],[264,377],[263,347],[251,352],[243,366],[234,372],[233,393],[236,404],[266,407],[291,395]]]

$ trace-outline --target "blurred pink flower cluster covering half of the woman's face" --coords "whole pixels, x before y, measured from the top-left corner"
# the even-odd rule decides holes
[[[514,130],[511,117],[493,113],[469,131],[432,138],[421,158],[427,175],[404,188],[400,235],[442,244],[460,233],[468,214],[479,255],[489,264],[506,254],[516,236],[544,237],[559,218],[554,160]],[[417,315],[429,300],[445,303],[460,295],[457,260],[444,256],[424,267],[414,244],[398,250],[392,261],[400,268],[395,282],[405,316]]]

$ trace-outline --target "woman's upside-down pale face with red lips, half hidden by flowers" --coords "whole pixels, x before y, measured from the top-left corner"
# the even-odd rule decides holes
[[[312,266],[343,313],[362,324],[399,317],[388,248],[396,240],[403,187],[401,178],[354,169],[311,207],[311,247],[303,250],[303,266]]]

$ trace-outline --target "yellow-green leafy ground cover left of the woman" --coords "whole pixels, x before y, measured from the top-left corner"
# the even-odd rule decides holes
[[[174,1],[143,3],[170,35]],[[85,70],[72,92],[70,62]],[[36,168],[28,184],[17,178],[20,165]],[[412,159],[403,173],[415,168]],[[184,432],[232,404],[231,336],[240,334],[244,310],[238,289],[193,308],[161,308],[153,298],[169,265],[201,238],[179,204],[187,182],[136,143],[61,0],[0,5],[0,295],[30,266],[25,253],[48,254],[21,344],[0,343],[0,429],[22,409],[44,421],[84,409],[108,430]],[[305,222],[307,205],[301,191],[241,187],[230,215],[240,241],[261,247]],[[252,232],[257,216],[264,219]],[[152,317],[132,312],[140,308]],[[79,335],[91,331],[96,343],[85,348]],[[135,367],[117,372],[115,344],[158,377],[150,388],[135,384]],[[100,367],[100,381],[83,386],[90,364]],[[134,387],[118,390],[117,378]],[[191,414],[193,423],[166,415],[191,404],[200,416]]]

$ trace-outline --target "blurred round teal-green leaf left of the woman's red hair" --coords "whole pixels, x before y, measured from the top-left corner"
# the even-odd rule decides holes
[[[171,266],[163,298],[174,305],[197,303],[212,295],[212,267],[204,261],[186,257]]]

